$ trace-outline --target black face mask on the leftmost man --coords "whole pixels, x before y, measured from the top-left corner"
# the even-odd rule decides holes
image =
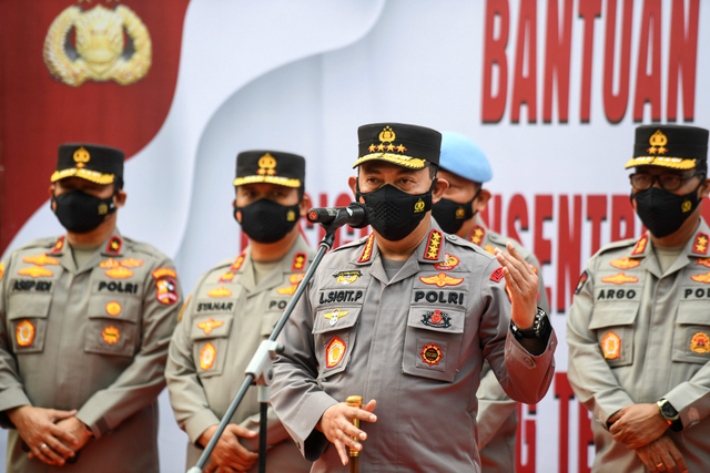
[[[72,191],[60,196],[52,196],[50,205],[59,218],[59,223],[68,232],[85,234],[101,225],[106,215],[115,212],[114,195],[99,198],[81,191]]]

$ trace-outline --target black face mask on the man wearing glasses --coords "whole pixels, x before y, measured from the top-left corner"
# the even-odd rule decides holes
[[[650,187],[631,194],[631,199],[636,199],[636,213],[646,228],[656,238],[663,238],[677,232],[698,207],[698,188],[686,195],[676,195],[659,187]]]

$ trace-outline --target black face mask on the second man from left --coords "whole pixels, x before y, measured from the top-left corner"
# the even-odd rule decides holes
[[[237,217],[242,214],[242,219]],[[278,241],[298,222],[301,206],[285,206],[267,198],[260,198],[246,207],[234,207],[234,218],[247,237],[257,243]]]

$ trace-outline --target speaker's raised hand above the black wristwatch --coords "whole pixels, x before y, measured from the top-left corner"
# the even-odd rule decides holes
[[[520,329],[528,329],[535,322],[537,313],[537,275],[532,265],[527,263],[510,241],[508,253],[496,248],[496,258],[503,266],[503,275],[510,291],[510,318]]]

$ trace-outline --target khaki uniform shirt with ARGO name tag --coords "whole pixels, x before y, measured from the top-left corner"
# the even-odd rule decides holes
[[[689,471],[710,465],[710,229],[703,220],[661,274],[648,234],[613,243],[588,263],[567,320],[569,381],[592,412],[595,472],[646,472],[607,420],[666,398],[681,432],[667,434]]]

